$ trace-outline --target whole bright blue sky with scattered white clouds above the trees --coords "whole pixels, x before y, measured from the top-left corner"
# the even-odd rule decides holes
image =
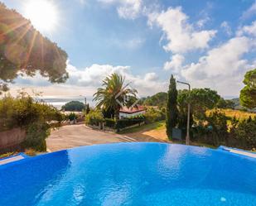
[[[231,98],[239,96],[246,71],[256,68],[255,0],[36,1],[51,7],[43,12],[45,25],[31,22],[67,52],[70,79],[51,84],[39,74],[21,76],[12,93],[28,88],[45,96],[92,96],[118,72],[141,97],[167,91],[173,74],[192,88]],[[2,2],[34,18],[27,13],[31,0]]]

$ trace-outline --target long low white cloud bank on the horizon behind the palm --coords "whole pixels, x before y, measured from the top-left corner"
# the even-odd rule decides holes
[[[131,82],[132,87],[138,89],[140,96],[157,93],[161,90],[165,90],[167,87],[166,83],[162,83],[158,80],[156,73],[151,72],[143,76],[134,75],[129,66],[94,64],[85,67],[85,69],[77,69],[68,62],[67,71],[70,74],[70,78],[65,84],[51,84],[46,78],[41,77],[40,74],[36,74],[34,77],[27,75],[19,76],[16,80],[17,83],[11,85],[12,91],[23,87],[43,91],[43,95],[54,95],[54,93],[61,95],[66,94],[67,96],[75,96],[83,93],[92,95],[96,89],[101,86],[102,80],[113,73],[125,76],[126,82]]]

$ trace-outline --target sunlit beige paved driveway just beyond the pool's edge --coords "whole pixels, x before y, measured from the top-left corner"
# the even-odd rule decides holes
[[[154,138],[128,137],[112,132],[100,132],[85,125],[70,125],[60,127],[52,131],[51,136],[46,139],[49,151],[59,151],[75,146],[89,146],[113,142],[129,141],[158,141]]]

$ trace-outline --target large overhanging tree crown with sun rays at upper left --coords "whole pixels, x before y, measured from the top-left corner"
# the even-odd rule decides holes
[[[33,76],[36,71],[51,83],[65,82],[66,60],[64,50],[0,2],[0,92],[19,74]]]

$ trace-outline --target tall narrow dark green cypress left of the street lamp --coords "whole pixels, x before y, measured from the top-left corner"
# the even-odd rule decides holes
[[[166,117],[166,127],[167,127],[167,136],[171,139],[172,128],[177,125],[178,118],[178,108],[177,108],[177,95],[176,90],[176,79],[171,75],[169,90],[167,93],[167,117]]]

